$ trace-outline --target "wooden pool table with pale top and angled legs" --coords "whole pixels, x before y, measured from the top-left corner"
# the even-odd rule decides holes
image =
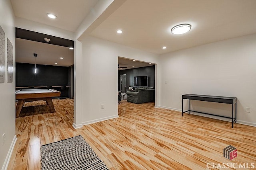
[[[52,113],[55,112],[52,97],[59,97],[60,92],[54,89],[25,89],[16,90],[15,95],[16,100],[18,100],[18,104],[16,106],[16,117],[19,117],[24,103],[36,100],[45,100],[46,104],[50,107],[50,111]]]

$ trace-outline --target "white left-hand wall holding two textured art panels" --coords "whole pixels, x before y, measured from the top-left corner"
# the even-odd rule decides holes
[[[5,32],[5,81],[0,83],[0,168],[4,169],[15,141],[15,27],[9,0],[0,0],[0,25]],[[13,82],[7,83],[7,38],[13,45]],[[3,133],[5,142],[3,143]]]

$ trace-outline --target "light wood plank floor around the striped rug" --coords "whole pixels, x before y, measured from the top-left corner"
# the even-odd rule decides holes
[[[208,162],[255,162],[256,166],[256,127],[235,124],[232,129],[230,122],[188,114],[182,117],[178,111],[154,108],[154,103],[122,101],[119,118],[75,130],[73,100],[53,102],[56,113],[46,113],[47,107],[37,106],[36,112],[43,114],[16,118],[18,140],[9,170],[40,169],[41,145],[77,135],[84,137],[110,170],[206,170]],[[38,104],[29,102],[26,106]],[[30,111],[34,109],[27,107],[22,113],[29,115]],[[223,157],[228,145],[238,150],[231,161]]]

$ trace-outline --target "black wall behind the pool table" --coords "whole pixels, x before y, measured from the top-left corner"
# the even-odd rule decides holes
[[[16,63],[16,87],[23,86],[67,86],[68,67]]]

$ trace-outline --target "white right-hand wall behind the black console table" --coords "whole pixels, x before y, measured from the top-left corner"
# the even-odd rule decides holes
[[[180,111],[182,94],[236,97],[238,122],[256,126],[256,34],[160,55],[160,61],[161,107]],[[192,101],[192,107],[226,116],[232,110],[200,101]]]

